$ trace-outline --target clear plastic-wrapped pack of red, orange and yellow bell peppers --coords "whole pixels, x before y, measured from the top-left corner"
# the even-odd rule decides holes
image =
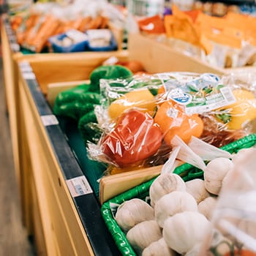
[[[225,146],[255,129],[253,81],[253,74],[188,72],[102,79],[103,132],[99,143],[88,143],[89,155],[117,167],[148,167],[166,162],[176,135]]]

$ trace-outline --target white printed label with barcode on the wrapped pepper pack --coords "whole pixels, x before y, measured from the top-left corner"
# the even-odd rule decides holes
[[[185,105],[186,113],[204,113],[236,102],[230,87],[222,84],[219,76],[186,72],[159,74],[167,99]]]

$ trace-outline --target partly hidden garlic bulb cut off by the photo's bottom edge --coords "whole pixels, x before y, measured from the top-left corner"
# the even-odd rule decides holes
[[[176,256],[170,247],[166,244],[165,239],[161,238],[151,244],[148,247],[143,249],[142,256]]]

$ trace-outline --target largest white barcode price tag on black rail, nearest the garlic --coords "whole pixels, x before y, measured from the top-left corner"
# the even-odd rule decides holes
[[[85,176],[71,178],[66,182],[72,197],[78,197],[80,195],[86,195],[86,194],[92,193],[92,189],[89,185],[89,182],[86,180]]]

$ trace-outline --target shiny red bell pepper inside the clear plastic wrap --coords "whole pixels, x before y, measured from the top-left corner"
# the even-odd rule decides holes
[[[124,112],[102,140],[102,152],[119,167],[139,165],[157,153],[162,132],[154,119],[139,110]]]

